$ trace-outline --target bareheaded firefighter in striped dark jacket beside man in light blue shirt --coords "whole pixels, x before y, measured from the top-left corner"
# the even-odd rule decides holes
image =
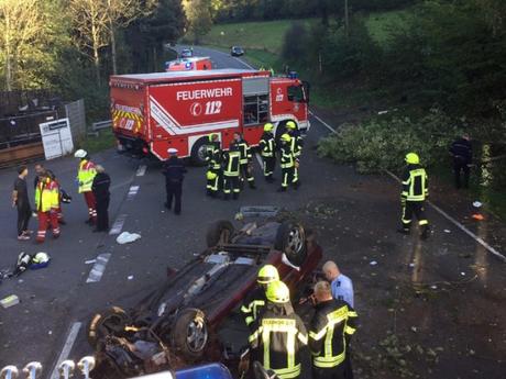
[[[328,281],[315,286],[316,312],[309,327],[314,379],[352,379],[350,338],[355,333],[356,312],[332,298]]]

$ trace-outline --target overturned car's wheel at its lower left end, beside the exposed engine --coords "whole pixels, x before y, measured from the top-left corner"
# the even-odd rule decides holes
[[[95,314],[88,325],[88,343],[96,348],[99,341],[108,335],[122,335],[130,324],[130,317],[119,306],[112,306]]]

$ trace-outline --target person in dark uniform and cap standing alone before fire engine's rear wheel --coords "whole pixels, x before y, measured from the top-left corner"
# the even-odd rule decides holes
[[[185,179],[186,168],[177,157],[177,149],[170,147],[169,158],[164,163],[162,174],[165,176],[166,202],[165,208],[172,209],[173,198],[175,199],[174,213],[182,213],[183,180]]]

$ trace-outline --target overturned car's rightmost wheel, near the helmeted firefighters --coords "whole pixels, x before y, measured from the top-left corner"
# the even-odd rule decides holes
[[[306,260],[306,232],[304,226],[293,222],[279,225],[274,247],[286,254],[294,266],[300,266]]]

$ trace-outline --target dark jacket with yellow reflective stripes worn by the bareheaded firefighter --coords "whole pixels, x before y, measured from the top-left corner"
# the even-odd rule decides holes
[[[356,312],[344,301],[329,300],[317,305],[309,328],[312,365],[332,368],[346,355],[346,339],[355,333]]]

